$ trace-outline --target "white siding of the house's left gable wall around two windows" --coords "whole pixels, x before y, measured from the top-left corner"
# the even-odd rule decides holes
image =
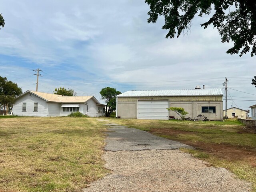
[[[47,116],[47,102],[34,94],[27,93],[18,98],[13,105],[13,114],[18,116]],[[22,111],[22,103],[26,103],[26,111]],[[34,111],[34,103],[38,103],[38,111]]]

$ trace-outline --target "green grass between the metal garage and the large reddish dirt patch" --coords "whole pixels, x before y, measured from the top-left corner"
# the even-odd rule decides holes
[[[113,119],[113,121],[174,140],[256,148],[256,134],[239,134],[238,132],[243,131],[244,125],[237,120],[192,122],[182,120]],[[181,134],[165,135],[162,134],[163,130],[181,131]]]

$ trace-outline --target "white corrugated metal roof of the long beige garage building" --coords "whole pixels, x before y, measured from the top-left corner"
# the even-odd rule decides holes
[[[143,96],[223,96],[223,93],[221,89],[148,90],[127,91],[117,97]]]

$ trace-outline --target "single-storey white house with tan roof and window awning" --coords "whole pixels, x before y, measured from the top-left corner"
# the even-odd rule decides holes
[[[13,105],[13,114],[18,116],[68,116],[72,112],[104,116],[105,105],[94,96],[62,96],[29,90],[16,97]]]

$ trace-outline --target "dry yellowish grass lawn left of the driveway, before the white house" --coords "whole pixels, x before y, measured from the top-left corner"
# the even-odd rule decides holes
[[[1,117],[0,191],[74,192],[108,170],[93,118]]]

